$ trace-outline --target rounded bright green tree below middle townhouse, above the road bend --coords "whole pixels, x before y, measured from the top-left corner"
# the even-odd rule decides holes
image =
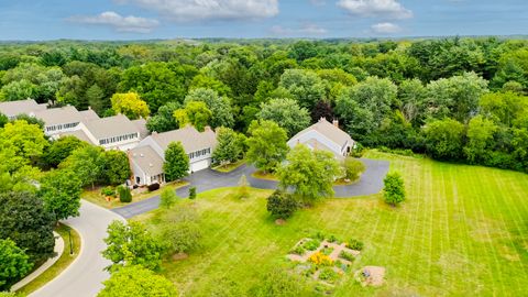
[[[58,167],[70,169],[81,178],[82,186],[95,188],[96,182],[105,175],[103,153],[102,147],[87,145],[75,150]]]

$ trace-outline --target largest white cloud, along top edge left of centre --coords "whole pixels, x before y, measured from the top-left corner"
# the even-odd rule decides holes
[[[157,11],[172,20],[245,20],[278,14],[278,0],[116,0]]]

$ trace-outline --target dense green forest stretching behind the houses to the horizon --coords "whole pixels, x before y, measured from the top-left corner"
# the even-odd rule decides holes
[[[528,41],[152,41],[0,44],[0,100],[111,116],[135,92],[151,131],[190,121],[292,136],[324,117],[362,146],[528,170]],[[185,120],[173,117],[183,110]],[[176,112],[176,114],[179,114]]]

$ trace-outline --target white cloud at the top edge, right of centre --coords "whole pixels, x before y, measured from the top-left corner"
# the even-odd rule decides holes
[[[338,6],[352,15],[364,18],[409,19],[413,11],[396,0],[340,0]]]

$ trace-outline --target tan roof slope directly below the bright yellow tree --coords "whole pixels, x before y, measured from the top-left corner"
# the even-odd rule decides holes
[[[140,133],[132,121],[123,114],[86,122],[86,128],[98,140]]]

